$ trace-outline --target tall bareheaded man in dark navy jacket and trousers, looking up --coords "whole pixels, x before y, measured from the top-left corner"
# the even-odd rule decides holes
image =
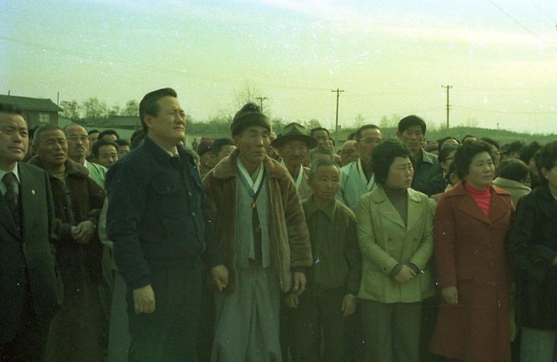
[[[179,146],[184,118],[174,90],[147,93],[145,142],[106,176],[108,238],[128,286],[130,361],[197,361],[201,257],[215,287],[227,284],[198,170]]]

